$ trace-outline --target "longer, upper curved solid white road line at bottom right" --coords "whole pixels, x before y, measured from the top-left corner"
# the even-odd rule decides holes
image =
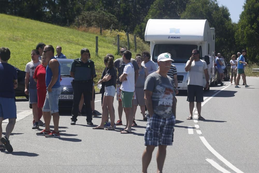
[[[200,140],[202,140],[203,144],[207,147],[208,150],[210,150],[210,152],[212,154],[214,154],[219,160],[221,160],[223,163],[225,163],[229,168],[231,168],[233,171],[237,172],[237,173],[244,173],[241,170],[239,170],[238,168],[236,168],[234,165],[232,165],[229,161],[227,161],[224,157],[222,157],[216,150],[214,150],[210,144],[206,141],[205,137],[200,136]]]

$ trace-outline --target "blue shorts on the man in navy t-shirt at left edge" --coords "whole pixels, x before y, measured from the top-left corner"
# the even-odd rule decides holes
[[[0,97],[0,117],[3,117],[3,120],[9,118],[17,118],[16,104],[14,98]]]

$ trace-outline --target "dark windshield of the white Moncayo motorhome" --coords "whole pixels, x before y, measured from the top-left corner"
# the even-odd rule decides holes
[[[157,44],[154,46],[152,60],[157,63],[157,57],[167,52],[171,54],[174,63],[186,63],[190,59],[192,50],[197,47],[197,45]]]

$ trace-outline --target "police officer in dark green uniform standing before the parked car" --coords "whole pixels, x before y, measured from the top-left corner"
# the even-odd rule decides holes
[[[92,123],[92,109],[91,109],[91,99],[92,99],[92,86],[93,78],[96,77],[95,74],[95,64],[89,59],[90,51],[86,48],[81,50],[81,58],[75,59],[71,64],[70,76],[74,78],[72,81],[72,87],[74,90],[73,107],[72,107],[72,118],[71,125],[75,125],[77,121],[79,102],[84,95],[85,112],[87,115],[87,124],[93,125]]]

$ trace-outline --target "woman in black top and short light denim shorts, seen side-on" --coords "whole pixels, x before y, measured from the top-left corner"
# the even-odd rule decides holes
[[[98,82],[105,82],[104,86],[104,97],[103,97],[103,104],[102,104],[102,121],[101,124],[93,129],[104,129],[104,122],[108,118],[108,112],[110,114],[111,119],[111,126],[108,127],[106,130],[114,130],[114,120],[115,120],[115,112],[113,107],[113,98],[116,93],[116,77],[117,77],[117,70],[114,67],[113,58],[112,57],[104,57],[104,65],[107,68],[106,74],[104,75],[103,79]],[[98,85],[97,84],[97,85]]]

